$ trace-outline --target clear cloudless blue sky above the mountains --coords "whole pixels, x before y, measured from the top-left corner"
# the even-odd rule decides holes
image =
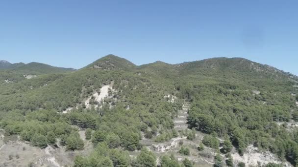
[[[0,60],[243,57],[298,75],[298,0],[0,0]]]

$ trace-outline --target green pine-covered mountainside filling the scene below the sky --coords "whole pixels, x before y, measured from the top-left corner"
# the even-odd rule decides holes
[[[202,143],[218,155],[229,157],[233,147],[243,156],[253,145],[298,163],[298,78],[290,73],[242,58],[137,66],[114,55],[68,71],[73,70],[29,63],[0,72],[0,127],[6,136],[19,135],[41,148],[59,141],[79,150],[79,128],[94,151],[76,157],[75,167],[155,167],[157,157],[161,167],[192,167],[140,142],[144,136],[155,142],[182,139],[185,132],[175,130],[174,120],[187,102],[193,129],[187,140],[202,134]],[[44,75],[27,80],[23,74]],[[141,153],[130,158],[135,150]],[[181,152],[186,155],[186,148]],[[220,158],[213,163],[222,163]]]

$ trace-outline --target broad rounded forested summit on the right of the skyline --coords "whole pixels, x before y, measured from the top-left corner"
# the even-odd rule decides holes
[[[285,79],[296,76],[274,68],[269,65],[255,63],[244,58],[211,58],[195,62],[175,64],[176,68],[183,74],[214,74],[232,75],[252,78]],[[234,75],[235,77],[235,75]]]

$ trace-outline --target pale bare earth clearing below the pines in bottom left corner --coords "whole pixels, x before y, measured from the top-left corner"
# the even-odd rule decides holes
[[[75,156],[89,155],[93,150],[92,143],[85,140],[85,132],[79,131],[79,134],[82,139],[84,138],[84,149],[66,151],[59,144],[41,149],[31,146],[28,142],[20,141],[17,137],[4,143],[4,136],[1,133],[0,167],[27,167],[29,164],[34,167],[72,167]]]

